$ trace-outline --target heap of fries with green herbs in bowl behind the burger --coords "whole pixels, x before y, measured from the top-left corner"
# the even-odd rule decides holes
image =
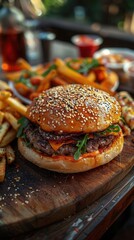
[[[7,73],[6,77],[14,81],[16,91],[29,100],[54,86],[73,83],[86,84],[113,95],[113,89],[118,82],[117,74],[114,76],[113,71],[107,71],[105,66],[93,58],[56,58],[45,66],[39,65],[34,69],[24,59],[19,59],[18,63],[22,70]]]

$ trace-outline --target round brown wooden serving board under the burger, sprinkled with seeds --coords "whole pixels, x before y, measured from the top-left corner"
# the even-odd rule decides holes
[[[133,165],[134,133],[110,163],[78,174],[40,169],[16,150],[16,163],[0,185],[0,236],[25,233],[77,213],[111,190]]]

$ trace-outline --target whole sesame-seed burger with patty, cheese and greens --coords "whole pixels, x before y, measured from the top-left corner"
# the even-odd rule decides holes
[[[18,149],[41,168],[84,172],[121,153],[120,116],[118,101],[102,90],[79,84],[53,87],[28,106]]]

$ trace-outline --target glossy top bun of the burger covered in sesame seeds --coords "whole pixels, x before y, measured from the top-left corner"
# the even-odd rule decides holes
[[[45,131],[97,132],[120,119],[121,107],[108,93],[70,84],[42,92],[28,107],[27,118]]]

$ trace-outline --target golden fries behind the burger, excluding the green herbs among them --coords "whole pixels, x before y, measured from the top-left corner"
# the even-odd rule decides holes
[[[92,61],[92,59],[88,60]],[[100,66],[98,67],[97,70],[98,71],[97,77],[94,70],[90,71],[85,76],[84,74],[75,71],[75,69],[68,67],[67,61],[69,61],[69,58],[65,60],[56,58],[52,62],[46,64],[45,66],[39,65],[36,69],[33,69],[32,66],[26,60],[19,59],[18,63],[23,70],[15,73],[7,73],[6,77],[7,79],[15,83],[16,90],[23,97],[26,97],[30,100],[33,100],[35,97],[38,97],[40,92],[47,90],[51,87],[71,83],[86,84],[112,94],[111,89],[116,81],[116,78],[118,78],[116,74],[114,76],[113,73],[113,77],[111,78],[108,75],[109,73],[107,72],[106,67]],[[82,61],[83,59],[80,60],[78,59],[78,63],[74,64],[75,65],[74,68],[76,67],[76,65],[78,65],[79,67],[80,64],[82,64]],[[55,68],[52,68],[50,70],[52,66],[55,66]],[[27,76],[28,73],[24,73],[24,69],[33,73],[33,76]],[[48,74],[43,76],[43,73],[45,71],[48,71]],[[24,84],[24,82],[18,81],[20,77],[22,77],[22,74],[23,77],[26,79],[29,77],[30,85],[32,84],[33,88],[28,87],[28,85]]]

